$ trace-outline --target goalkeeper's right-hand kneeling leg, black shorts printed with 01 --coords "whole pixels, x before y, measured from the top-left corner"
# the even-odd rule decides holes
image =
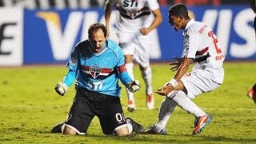
[[[120,98],[106,94],[98,94],[95,99],[98,103],[96,114],[104,134],[126,136],[134,130],[138,130],[138,123],[132,119],[126,120],[122,111]]]

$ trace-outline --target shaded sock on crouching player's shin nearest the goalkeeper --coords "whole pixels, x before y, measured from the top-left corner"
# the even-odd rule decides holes
[[[175,107],[177,106],[176,102],[174,102],[170,98],[165,98],[162,101],[160,106],[160,110],[158,113],[158,122],[156,122],[155,130],[156,132],[160,132],[162,129],[166,127],[166,123],[168,122],[170,115],[173,113]]]

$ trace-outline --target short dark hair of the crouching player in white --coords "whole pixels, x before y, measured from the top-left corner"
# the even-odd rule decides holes
[[[190,19],[188,10],[186,9],[186,6],[182,3],[177,3],[171,6],[168,12],[169,12],[169,16],[175,16],[175,17],[182,16],[185,19]]]

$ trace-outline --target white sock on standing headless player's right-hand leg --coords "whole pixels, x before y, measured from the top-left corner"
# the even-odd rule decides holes
[[[142,78],[146,84],[146,94],[152,94],[152,72],[150,66],[146,70],[141,70]]]

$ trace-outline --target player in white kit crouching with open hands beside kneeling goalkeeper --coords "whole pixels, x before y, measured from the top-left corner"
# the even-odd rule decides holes
[[[170,63],[171,70],[177,70],[174,78],[158,89],[156,93],[166,96],[158,114],[158,122],[147,130],[147,134],[166,134],[166,122],[176,106],[193,114],[194,130],[199,134],[212,120],[212,116],[198,107],[190,98],[210,92],[221,86],[224,79],[222,67],[224,55],[221,42],[213,30],[203,22],[194,21],[188,15],[186,6],[175,4],[169,10],[169,23],[175,31],[184,30],[181,58]],[[195,65],[186,73],[191,63]]]

